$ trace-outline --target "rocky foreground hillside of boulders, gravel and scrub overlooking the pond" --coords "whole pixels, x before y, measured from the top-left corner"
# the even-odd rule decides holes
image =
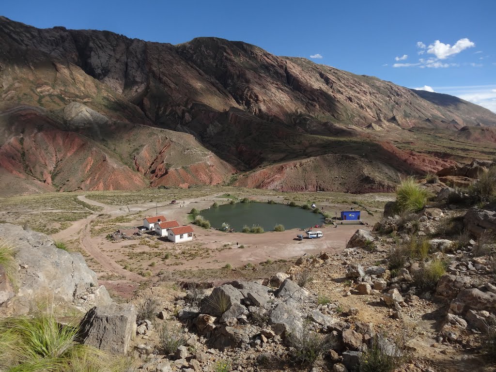
[[[494,371],[496,206],[470,204],[441,187],[419,213],[358,230],[340,253],[254,282],[159,283],[130,304],[112,301],[79,254],[2,224],[19,246],[19,286],[0,277],[0,311],[28,314],[51,294],[59,310],[87,311],[83,343],[132,357],[136,371],[355,371],[378,341],[398,371]]]

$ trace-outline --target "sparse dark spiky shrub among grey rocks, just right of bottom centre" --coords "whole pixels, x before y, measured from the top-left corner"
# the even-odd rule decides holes
[[[310,366],[321,355],[331,349],[334,343],[329,335],[314,332],[308,324],[301,331],[293,331],[288,334],[287,341],[290,357],[294,363]]]

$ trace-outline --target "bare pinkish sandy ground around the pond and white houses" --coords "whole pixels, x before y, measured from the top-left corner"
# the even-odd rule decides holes
[[[137,284],[146,280],[142,275],[136,273],[137,265],[141,270],[150,271],[152,275],[155,275],[161,271],[220,268],[227,263],[233,267],[239,267],[248,263],[258,264],[268,259],[291,260],[305,253],[339,251],[346,247],[347,241],[358,228],[366,228],[357,225],[339,225],[337,228],[326,226],[319,229],[324,233],[323,238],[298,241],[296,239],[297,234],[305,234],[299,229],[285,232],[244,234],[226,233],[213,229],[207,230],[193,225],[194,239],[187,243],[174,244],[165,238],[144,235],[149,238],[148,243],[158,243],[158,248],[151,248],[139,244],[139,239],[111,242],[105,238],[106,234],[91,237],[90,224],[100,214],[117,217],[136,212],[142,212],[145,216],[154,216],[158,212],[159,215],[166,216],[168,220],[177,220],[180,224],[188,224],[188,212],[191,208],[201,210],[212,205],[214,201],[222,202],[225,199],[222,199],[220,194],[217,194],[210,197],[178,200],[176,204],[159,203],[156,210],[154,202],[115,206],[96,202],[86,198],[84,195],[80,195],[78,198],[86,203],[102,207],[103,211],[74,222],[69,228],[55,234],[53,237],[67,241],[77,240],[81,248],[98,263],[98,265],[92,265],[92,260],[90,259],[90,266],[95,266],[92,268],[100,278],[114,278],[113,284],[117,285],[118,292],[120,291],[119,287],[127,286],[129,283]],[[276,201],[282,202],[282,198]],[[333,213],[333,208],[339,208],[334,204],[326,205],[324,203],[322,206],[331,213]],[[366,221],[372,226],[375,220],[372,220],[372,218],[368,220],[366,217]],[[120,226],[140,226],[141,224],[142,220],[137,219],[120,224]],[[131,245],[135,246],[130,248]],[[240,248],[241,246],[244,246],[244,248]],[[196,252],[195,255],[190,254],[193,250]],[[176,258],[161,260],[159,255],[165,252],[169,252]],[[134,258],[130,259],[130,256]],[[131,266],[134,264],[134,270],[124,269],[122,264],[124,261],[129,262]],[[112,283],[107,282],[106,286],[110,284]]]

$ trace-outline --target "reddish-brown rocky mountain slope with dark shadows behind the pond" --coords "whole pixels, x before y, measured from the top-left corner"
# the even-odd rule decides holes
[[[453,163],[396,148],[413,135],[405,129],[496,124],[455,97],[243,42],[174,46],[4,17],[0,26],[3,190],[387,190],[398,174]],[[363,185],[330,182],[352,176]]]

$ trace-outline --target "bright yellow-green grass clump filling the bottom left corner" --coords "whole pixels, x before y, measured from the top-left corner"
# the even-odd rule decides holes
[[[54,316],[0,321],[0,370],[17,372],[123,372],[124,359],[77,342],[78,326]]]

